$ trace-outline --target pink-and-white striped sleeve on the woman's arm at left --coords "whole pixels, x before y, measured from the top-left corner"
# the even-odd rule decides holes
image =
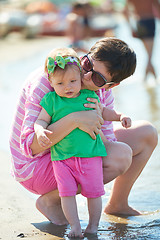
[[[24,88],[25,102],[23,103],[24,117],[21,125],[20,148],[22,154],[29,158],[33,157],[30,145],[35,134],[34,123],[42,108],[39,103],[42,97],[47,92],[51,91],[50,84],[46,81],[47,80],[44,77],[40,76],[40,79],[38,79],[38,84],[37,81],[36,83],[31,81],[32,84],[28,85],[27,88]]]

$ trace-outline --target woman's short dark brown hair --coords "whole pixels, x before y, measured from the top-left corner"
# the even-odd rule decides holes
[[[112,81],[119,83],[131,76],[136,69],[136,54],[124,41],[108,37],[97,41],[89,54],[96,61],[101,61],[112,76]]]

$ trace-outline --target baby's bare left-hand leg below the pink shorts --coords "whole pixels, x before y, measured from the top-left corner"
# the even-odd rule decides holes
[[[75,196],[61,197],[61,203],[64,215],[71,226],[68,237],[83,238]]]

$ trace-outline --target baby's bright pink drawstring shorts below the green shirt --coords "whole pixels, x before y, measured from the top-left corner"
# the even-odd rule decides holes
[[[63,161],[53,161],[52,164],[61,197],[75,196],[79,184],[81,194],[87,198],[104,195],[101,157],[72,157]]]

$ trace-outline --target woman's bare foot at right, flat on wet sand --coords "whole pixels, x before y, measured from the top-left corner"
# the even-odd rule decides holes
[[[104,209],[104,213],[111,214],[111,215],[125,215],[125,216],[138,216],[142,214],[141,212],[137,211],[136,209],[128,205],[113,206],[111,204],[107,204],[107,206]]]

